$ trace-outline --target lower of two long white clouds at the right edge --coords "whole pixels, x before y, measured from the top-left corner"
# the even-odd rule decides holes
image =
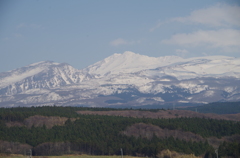
[[[189,34],[176,34],[168,40],[161,41],[164,44],[177,44],[182,46],[199,46],[208,44],[212,47],[240,47],[240,31],[233,29],[220,29],[211,31],[197,31]]]

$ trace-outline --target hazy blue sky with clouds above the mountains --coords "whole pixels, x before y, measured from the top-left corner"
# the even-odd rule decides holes
[[[240,57],[240,0],[0,0],[0,72],[114,53]]]

